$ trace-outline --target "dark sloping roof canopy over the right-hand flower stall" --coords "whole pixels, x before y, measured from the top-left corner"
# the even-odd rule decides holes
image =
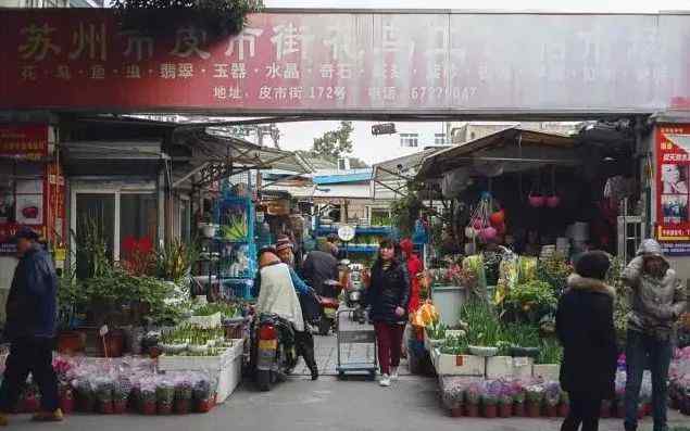
[[[569,136],[510,127],[427,155],[416,179],[438,179],[451,172],[493,177],[543,165],[575,166],[582,163],[577,149],[578,140]]]

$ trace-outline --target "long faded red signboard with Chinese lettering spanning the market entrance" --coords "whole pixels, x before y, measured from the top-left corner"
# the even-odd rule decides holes
[[[123,31],[108,9],[0,10],[0,110],[650,112],[690,94],[688,28],[663,14],[271,12],[211,40]]]

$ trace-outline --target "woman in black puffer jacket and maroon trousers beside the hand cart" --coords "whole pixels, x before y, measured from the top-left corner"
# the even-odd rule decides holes
[[[381,368],[381,386],[389,386],[391,377],[398,378],[402,335],[407,321],[410,278],[404,264],[396,259],[392,241],[381,241],[378,259],[372,267],[366,303],[372,307]]]

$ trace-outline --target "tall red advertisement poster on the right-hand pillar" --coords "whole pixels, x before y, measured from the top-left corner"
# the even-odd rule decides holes
[[[656,236],[670,255],[690,255],[690,125],[656,130]]]

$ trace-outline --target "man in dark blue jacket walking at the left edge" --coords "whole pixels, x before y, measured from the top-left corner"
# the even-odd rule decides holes
[[[57,326],[58,277],[50,255],[37,243],[38,234],[23,227],[15,236],[20,263],[7,305],[5,334],[10,356],[0,388],[0,426],[16,405],[30,373],[41,394],[41,410],[34,420],[63,419],[58,404],[58,378],[52,368]]]

